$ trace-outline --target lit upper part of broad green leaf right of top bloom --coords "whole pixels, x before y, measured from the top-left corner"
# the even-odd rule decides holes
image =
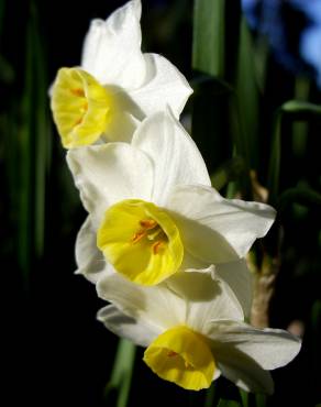
[[[223,76],[224,31],[224,0],[195,0],[193,69],[213,76]]]

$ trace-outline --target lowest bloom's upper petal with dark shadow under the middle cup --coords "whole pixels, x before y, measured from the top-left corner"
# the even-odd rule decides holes
[[[223,280],[213,278],[213,267],[202,273],[178,273],[167,279],[168,287],[185,299],[186,323],[207,334],[207,326],[213,319],[243,320],[240,302]]]

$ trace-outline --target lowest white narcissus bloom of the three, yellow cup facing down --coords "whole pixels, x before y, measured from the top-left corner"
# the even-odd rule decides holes
[[[268,370],[289,363],[300,340],[277,329],[255,329],[229,286],[209,273],[180,273],[154,287],[118,274],[98,283],[112,301],[98,319],[112,332],[147,346],[144,362],[159,377],[198,391],[220,374],[250,392],[273,393]]]

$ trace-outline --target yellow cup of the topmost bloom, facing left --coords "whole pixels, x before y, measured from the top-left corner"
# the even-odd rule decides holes
[[[87,72],[59,69],[52,97],[52,110],[66,148],[95,143],[110,120],[112,98]]]

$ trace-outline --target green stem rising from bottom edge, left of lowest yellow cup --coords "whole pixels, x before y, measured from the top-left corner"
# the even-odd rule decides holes
[[[107,405],[126,407],[130,395],[136,346],[125,339],[120,339],[113,363],[111,378],[104,389]]]

